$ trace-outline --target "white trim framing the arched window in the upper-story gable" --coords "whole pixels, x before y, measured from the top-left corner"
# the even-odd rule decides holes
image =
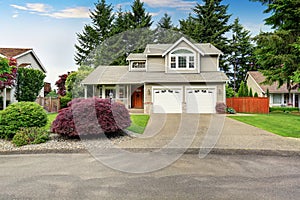
[[[190,52],[192,52],[192,54],[173,54],[172,55],[172,53],[174,52],[174,51],[178,51],[178,50],[187,50],[187,51],[190,51]],[[179,68],[178,67],[178,65],[179,65],[179,57],[180,56],[185,56],[187,59],[186,59],[186,64],[187,64],[187,67],[185,67],[185,68]],[[194,57],[194,67],[193,68],[190,68],[189,67],[189,64],[190,64],[190,56],[193,56]],[[196,70],[197,69],[197,54],[196,54],[196,52],[194,51],[194,50],[192,50],[192,49],[189,49],[189,48],[185,48],[185,47],[180,47],[180,48],[176,48],[176,49],[174,49],[173,51],[171,51],[170,52],[170,54],[169,54],[169,64],[168,64],[168,68],[170,69],[170,70]],[[176,67],[175,68],[172,68],[171,67],[171,59],[172,59],[172,57],[175,57],[176,58]]]

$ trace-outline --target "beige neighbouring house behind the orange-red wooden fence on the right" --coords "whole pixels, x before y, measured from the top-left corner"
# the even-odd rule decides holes
[[[286,84],[278,88],[278,83],[272,85],[263,84],[265,76],[258,71],[250,71],[246,76],[247,85],[252,88],[253,93],[257,92],[259,97],[266,97],[267,90],[270,93],[270,106],[293,106],[299,107],[300,91],[291,90],[290,94]]]

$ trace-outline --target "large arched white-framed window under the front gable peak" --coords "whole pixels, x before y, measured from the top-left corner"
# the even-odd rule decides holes
[[[187,49],[175,50],[170,56],[171,69],[194,69],[195,53]]]

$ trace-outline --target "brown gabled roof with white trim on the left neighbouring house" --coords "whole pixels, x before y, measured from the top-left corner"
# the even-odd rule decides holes
[[[41,70],[46,73],[46,69],[43,66],[42,62],[40,61],[40,59],[37,57],[37,55],[34,53],[32,48],[0,48],[0,55],[3,55],[7,58],[15,58],[18,59],[20,57],[22,57],[23,55],[32,53],[33,57],[36,59],[37,63],[39,63]],[[19,63],[19,66],[24,66],[24,65],[28,65],[28,63]]]

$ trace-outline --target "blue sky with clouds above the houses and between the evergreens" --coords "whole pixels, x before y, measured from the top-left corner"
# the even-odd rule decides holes
[[[141,0],[154,25],[168,13],[174,25],[186,19],[201,0]],[[76,33],[90,23],[89,12],[97,0],[0,0],[0,47],[33,48],[47,70],[52,87],[58,76],[77,70],[74,61]],[[130,10],[133,0],[106,0],[114,11]],[[239,18],[245,29],[257,35],[269,31],[264,25],[266,7],[249,0],[223,0],[229,5],[231,22]]]

